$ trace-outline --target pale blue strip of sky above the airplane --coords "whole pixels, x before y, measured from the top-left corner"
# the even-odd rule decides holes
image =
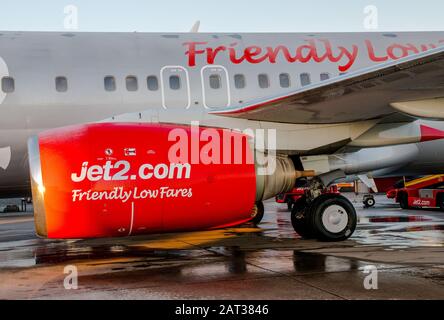
[[[65,14],[69,5],[77,19]],[[370,14],[371,31],[444,30],[442,0],[0,0],[0,8],[3,31],[63,31],[68,21],[77,31],[187,32],[200,20],[201,32],[346,32],[368,30]]]

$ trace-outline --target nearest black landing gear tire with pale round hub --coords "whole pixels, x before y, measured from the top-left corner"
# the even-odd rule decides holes
[[[338,207],[338,212],[335,212]],[[324,215],[328,213],[327,210],[332,215],[332,218],[339,219],[338,222],[332,222],[330,226],[324,224]],[[345,220],[344,215],[347,215],[347,220]],[[318,197],[311,206],[311,219],[314,234],[317,239],[321,241],[345,241],[350,238],[356,230],[358,218],[356,215],[356,210],[353,204],[341,195],[326,194]],[[342,220],[342,221],[341,221]],[[344,223],[343,228],[340,224]]]

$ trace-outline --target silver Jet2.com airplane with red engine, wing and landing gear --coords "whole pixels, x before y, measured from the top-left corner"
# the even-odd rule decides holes
[[[422,171],[421,148],[444,138],[443,44],[444,32],[1,32],[0,195],[32,189],[41,237],[125,237],[257,221],[308,179],[293,227],[346,240],[356,211],[327,186]],[[251,143],[261,130],[272,147]],[[213,161],[172,161],[183,136]],[[241,161],[214,161],[215,145],[231,160],[226,136],[246,145]]]

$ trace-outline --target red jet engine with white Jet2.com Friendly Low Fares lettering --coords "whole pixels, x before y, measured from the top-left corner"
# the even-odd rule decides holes
[[[177,130],[184,137],[171,139]],[[247,136],[211,129],[228,138],[199,139],[204,130],[102,123],[55,129],[30,139],[37,234],[84,239],[228,227],[249,221],[257,201],[294,185],[297,172],[291,160],[278,160],[278,172],[271,174],[286,177],[282,183],[258,179]],[[234,140],[246,146],[240,160],[235,160],[239,145]],[[178,143],[189,152],[184,155],[187,148],[178,148]],[[215,155],[217,147],[220,154]],[[231,161],[224,161],[226,154]],[[172,155],[183,161],[171,161]],[[221,163],[214,161],[218,157]],[[271,187],[267,180],[273,181]]]

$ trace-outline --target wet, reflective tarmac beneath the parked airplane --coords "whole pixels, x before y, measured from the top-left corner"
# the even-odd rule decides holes
[[[41,240],[32,216],[0,215],[0,299],[444,299],[444,213],[354,201],[342,243],[301,240],[273,201],[258,228],[129,239]]]

